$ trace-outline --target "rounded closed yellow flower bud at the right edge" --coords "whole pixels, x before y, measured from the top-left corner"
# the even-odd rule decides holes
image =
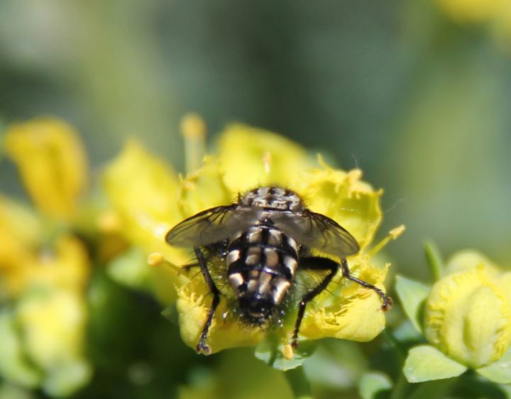
[[[500,359],[511,345],[511,273],[474,251],[459,253],[429,293],[424,334],[471,368]]]

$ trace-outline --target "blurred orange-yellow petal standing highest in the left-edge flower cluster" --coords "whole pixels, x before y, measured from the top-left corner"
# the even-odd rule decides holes
[[[60,119],[15,124],[7,130],[5,148],[35,206],[69,219],[87,180],[87,160],[75,130]]]

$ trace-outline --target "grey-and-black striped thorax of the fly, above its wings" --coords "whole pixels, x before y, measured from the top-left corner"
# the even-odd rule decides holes
[[[238,204],[290,212],[304,209],[300,196],[282,187],[258,187],[240,197]]]

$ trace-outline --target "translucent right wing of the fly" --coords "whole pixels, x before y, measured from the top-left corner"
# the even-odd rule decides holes
[[[334,256],[349,256],[358,252],[358,243],[334,219],[309,210],[279,212],[272,215],[273,223],[299,244]]]

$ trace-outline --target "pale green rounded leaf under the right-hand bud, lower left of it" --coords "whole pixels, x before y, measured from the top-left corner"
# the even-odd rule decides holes
[[[429,345],[415,346],[408,352],[403,373],[410,383],[441,380],[461,375],[466,366],[449,359]]]

